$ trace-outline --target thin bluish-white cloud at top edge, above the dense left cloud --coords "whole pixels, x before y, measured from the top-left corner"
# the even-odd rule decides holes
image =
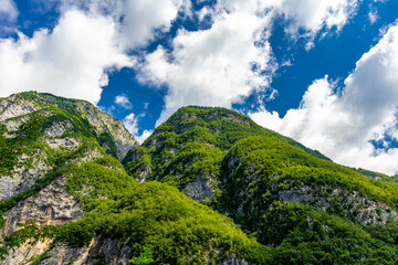
[[[36,0],[49,2],[49,0]],[[178,11],[189,6],[188,0],[50,0],[60,10],[88,10],[97,15],[109,15],[117,21],[117,42],[123,50],[147,44],[156,31],[169,30]]]

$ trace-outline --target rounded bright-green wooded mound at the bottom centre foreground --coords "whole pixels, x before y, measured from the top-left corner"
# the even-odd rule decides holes
[[[132,182],[134,183],[134,182]],[[268,247],[250,240],[231,220],[158,182],[134,183],[116,200],[101,200],[77,222],[61,227],[60,240],[87,244],[95,235],[122,239],[140,256],[154,251],[156,264],[202,264],[237,253],[261,263]],[[84,198],[82,202],[87,203]],[[220,255],[222,253],[223,255]]]

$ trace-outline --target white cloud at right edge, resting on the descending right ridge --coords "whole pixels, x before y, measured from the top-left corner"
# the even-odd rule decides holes
[[[259,124],[321,150],[337,162],[386,173],[398,171],[398,148],[375,149],[371,141],[398,139],[398,24],[356,63],[336,93],[327,76],[314,81],[297,109],[283,118],[262,109]],[[385,142],[388,146],[388,142]]]

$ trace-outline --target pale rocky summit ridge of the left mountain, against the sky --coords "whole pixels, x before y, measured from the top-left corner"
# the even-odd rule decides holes
[[[9,129],[17,129],[31,114],[45,117],[49,127],[53,123],[46,131],[51,137],[84,131],[97,138],[106,152],[119,160],[138,145],[122,120],[86,100],[38,92],[22,92],[0,99],[0,121]]]

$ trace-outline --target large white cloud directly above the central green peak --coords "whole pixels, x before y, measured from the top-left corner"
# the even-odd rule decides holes
[[[168,87],[158,124],[181,106],[231,107],[253,91],[269,89],[279,67],[269,43],[275,17],[290,21],[292,36],[303,29],[312,40],[325,26],[339,30],[355,8],[356,0],[220,0],[201,10],[199,18],[212,18],[210,29],[178,31],[171,51],[159,46],[140,65],[142,82]]]

